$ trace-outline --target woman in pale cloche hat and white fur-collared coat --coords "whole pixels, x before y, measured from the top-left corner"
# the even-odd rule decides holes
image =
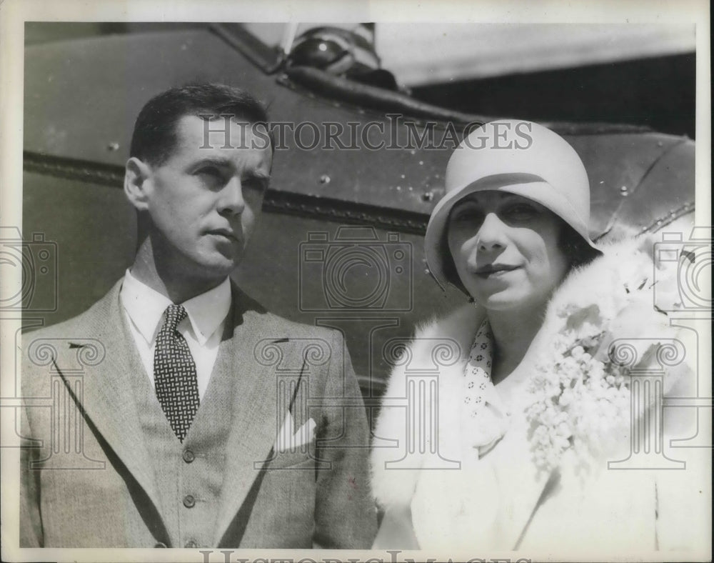
[[[426,259],[470,303],[418,329],[407,365],[391,374],[371,460],[385,510],[376,547],[582,556],[584,546],[625,553],[663,547],[671,536],[674,547],[687,541],[681,522],[665,522],[672,511],[654,472],[603,470],[628,459],[630,373],[660,369],[655,352],[678,344],[653,308],[653,241],[600,249],[589,215],[582,162],[543,126],[484,124],[454,152]],[[660,274],[658,296],[674,291],[673,277]],[[438,422],[425,434],[406,409],[389,405],[407,396],[408,372],[433,369],[443,344],[457,354],[438,366],[430,407]],[[681,357],[669,363],[665,391],[685,381]],[[653,400],[643,396],[633,419],[648,416]],[[385,445],[420,437],[425,447],[408,463],[403,449]]]

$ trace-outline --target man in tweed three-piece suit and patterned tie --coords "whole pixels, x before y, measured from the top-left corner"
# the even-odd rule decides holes
[[[341,335],[269,314],[228,277],[261,214],[266,122],[217,84],[141,110],[124,179],[134,264],[24,339],[22,547],[371,546],[368,427]],[[48,396],[66,403],[32,407]],[[73,424],[81,455],[61,467]]]

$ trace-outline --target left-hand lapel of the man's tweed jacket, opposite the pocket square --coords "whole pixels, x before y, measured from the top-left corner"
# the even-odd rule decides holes
[[[86,327],[81,334],[67,334],[67,348],[81,347],[82,339],[90,337],[104,346],[104,359],[96,365],[84,369],[82,397],[75,400],[106,444],[119,457],[129,473],[141,485],[158,509],[159,494],[154,470],[149,463],[149,451],[144,442],[144,433],[139,424],[134,389],[131,388],[131,369],[141,369],[138,353],[131,342],[131,334],[126,330],[124,316],[119,304],[121,281],[117,282],[109,294],[89,312]],[[77,331],[80,332],[80,331]],[[73,340],[76,339],[76,342]],[[76,357],[76,350],[72,350]],[[71,372],[68,357],[59,355],[56,367],[65,382],[65,375]]]

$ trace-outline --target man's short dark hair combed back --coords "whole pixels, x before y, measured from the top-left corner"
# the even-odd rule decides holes
[[[251,124],[265,124],[265,107],[245,90],[225,84],[186,84],[154,96],[139,112],[131,135],[129,156],[153,165],[164,164],[176,147],[176,123],[184,116],[229,114]],[[269,132],[271,148],[274,149]]]

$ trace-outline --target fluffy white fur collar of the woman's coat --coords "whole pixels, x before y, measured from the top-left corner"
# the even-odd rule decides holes
[[[623,302],[638,302],[638,307],[644,314],[648,314],[647,318],[638,318],[643,326],[658,324],[664,329],[668,325],[666,317],[655,312],[652,307],[651,288],[655,274],[653,243],[649,237],[640,237],[609,244],[602,248],[603,256],[572,271],[553,294],[535,342],[548,342],[550,335],[557,334],[563,324],[568,322],[566,313],[570,308],[593,306],[601,317],[613,319]],[[661,282],[661,285],[658,287],[665,287],[663,274],[660,274],[658,284]],[[635,291],[638,288],[640,290]],[[447,458],[458,459],[458,438],[454,439],[454,436],[458,435],[463,365],[468,358],[473,335],[484,315],[480,307],[466,304],[444,318],[432,319],[417,327],[408,349],[408,362],[395,367],[391,372],[384,394],[385,406],[374,430],[376,439],[371,453],[373,494],[381,506],[408,506],[421,473],[419,460],[426,459],[415,454],[410,457],[408,464],[411,469],[407,469],[405,464],[399,466],[403,470],[390,471],[386,467],[386,464],[394,461],[398,452],[403,451],[388,447],[394,443],[388,440],[406,440],[406,409],[390,405],[396,405],[397,398],[406,398],[407,371],[433,369],[434,339],[456,342],[461,350],[457,362],[440,370],[438,380],[439,452]]]

